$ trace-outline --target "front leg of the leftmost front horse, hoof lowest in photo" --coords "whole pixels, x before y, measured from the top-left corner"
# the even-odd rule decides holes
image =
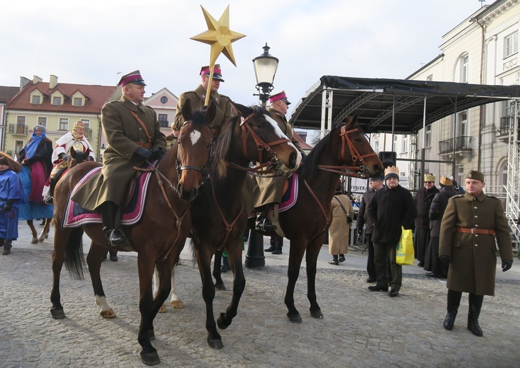
[[[147,365],[155,365],[159,364],[161,360],[159,360],[159,354],[157,354],[157,350],[155,349],[155,347],[152,346],[152,343],[150,343],[151,338],[153,338],[153,335],[151,336],[150,334],[153,333],[154,318],[157,315],[157,311],[159,311],[160,305],[156,304],[157,308],[154,311],[152,278],[154,273],[155,260],[153,257],[155,256],[157,258],[157,254],[153,254],[153,252],[150,253],[141,252],[139,254],[139,257],[137,258],[140,291],[139,311],[141,312],[141,324],[139,326],[139,334],[137,335],[137,340],[139,341],[139,344],[142,347],[142,362]],[[158,270],[160,279],[161,268],[159,267]],[[162,273],[164,274],[164,272]],[[159,295],[162,295],[162,292],[159,292]],[[167,297],[168,295],[166,294],[165,299]]]

